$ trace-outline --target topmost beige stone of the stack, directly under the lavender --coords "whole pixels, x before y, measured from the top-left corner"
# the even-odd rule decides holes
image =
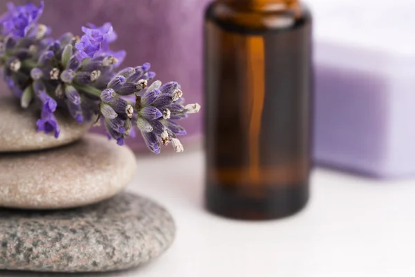
[[[0,98],[0,152],[20,152],[41,150],[66,145],[80,139],[91,126],[89,123],[79,124],[68,114],[55,112],[61,129],[59,138],[53,134],[37,132],[36,121],[40,111],[31,105],[22,109],[19,100],[12,96]]]

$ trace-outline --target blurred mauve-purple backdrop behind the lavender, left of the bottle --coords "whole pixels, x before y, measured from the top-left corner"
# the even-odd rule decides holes
[[[7,2],[1,1],[1,14],[6,12]],[[13,0],[16,5],[26,2]],[[40,0],[30,2],[38,5]],[[68,31],[81,35],[81,26],[88,22],[96,25],[111,22],[118,34],[111,48],[127,51],[122,66],[150,62],[157,80],[178,81],[186,102],[201,102],[203,8],[208,0],[44,0],[44,3],[40,21],[53,26],[53,37]],[[0,81],[2,93],[9,92]],[[196,135],[201,132],[201,114],[192,115],[181,124],[187,129],[184,140],[187,146],[199,141]],[[143,148],[140,136],[128,139],[127,143],[134,150]]]

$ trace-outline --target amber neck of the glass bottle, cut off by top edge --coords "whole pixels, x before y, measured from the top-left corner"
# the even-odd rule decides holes
[[[217,0],[234,8],[243,10],[286,10],[288,7],[297,6],[299,0]]]

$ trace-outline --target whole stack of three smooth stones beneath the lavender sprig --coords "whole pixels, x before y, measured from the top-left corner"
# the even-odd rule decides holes
[[[66,114],[57,113],[58,139],[36,132],[38,115],[0,98],[0,269],[113,271],[163,253],[171,215],[123,192],[133,152]]]

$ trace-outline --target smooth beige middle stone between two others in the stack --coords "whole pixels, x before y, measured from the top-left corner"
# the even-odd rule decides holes
[[[120,192],[136,157],[98,134],[62,148],[0,155],[0,206],[27,209],[93,204]]]

